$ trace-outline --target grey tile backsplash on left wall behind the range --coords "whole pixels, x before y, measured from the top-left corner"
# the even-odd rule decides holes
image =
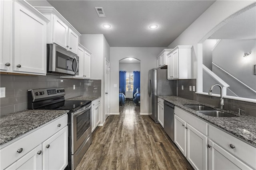
[[[73,89],[73,85],[76,89]],[[64,87],[65,98],[101,96],[101,80],[64,79],[60,76],[0,75],[0,87],[6,88],[6,97],[0,98],[0,115],[27,109],[28,89]]]

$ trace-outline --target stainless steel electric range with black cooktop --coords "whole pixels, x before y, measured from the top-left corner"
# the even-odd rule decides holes
[[[68,166],[74,170],[92,143],[91,101],[66,101],[64,88],[28,90],[28,109],[69,110]]]

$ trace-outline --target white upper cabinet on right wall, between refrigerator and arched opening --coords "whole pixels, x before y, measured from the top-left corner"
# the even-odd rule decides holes
[[[192,78],[192,46],[178,45],[167,53],[168,80]]]

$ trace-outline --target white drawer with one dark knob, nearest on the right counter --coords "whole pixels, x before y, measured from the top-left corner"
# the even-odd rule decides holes
[[[255,147],[212,125],[209,125],[209,138],[252,168],[256,169]],[[234,145],[235,148],[232,149],[230,144]]]

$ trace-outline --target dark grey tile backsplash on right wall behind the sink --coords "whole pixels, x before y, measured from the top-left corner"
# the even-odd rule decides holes
[[[182,85],[184,90],[181,90]],[[189,90],[189,86],[196,87],[196,79],[177,80],[177,96],[220,107],[219,97],[196,94],[195,92]],[[256,117],[255,103],[224,98],[224,109],[238,112],[238,108],[245,110],[245,114]]]

